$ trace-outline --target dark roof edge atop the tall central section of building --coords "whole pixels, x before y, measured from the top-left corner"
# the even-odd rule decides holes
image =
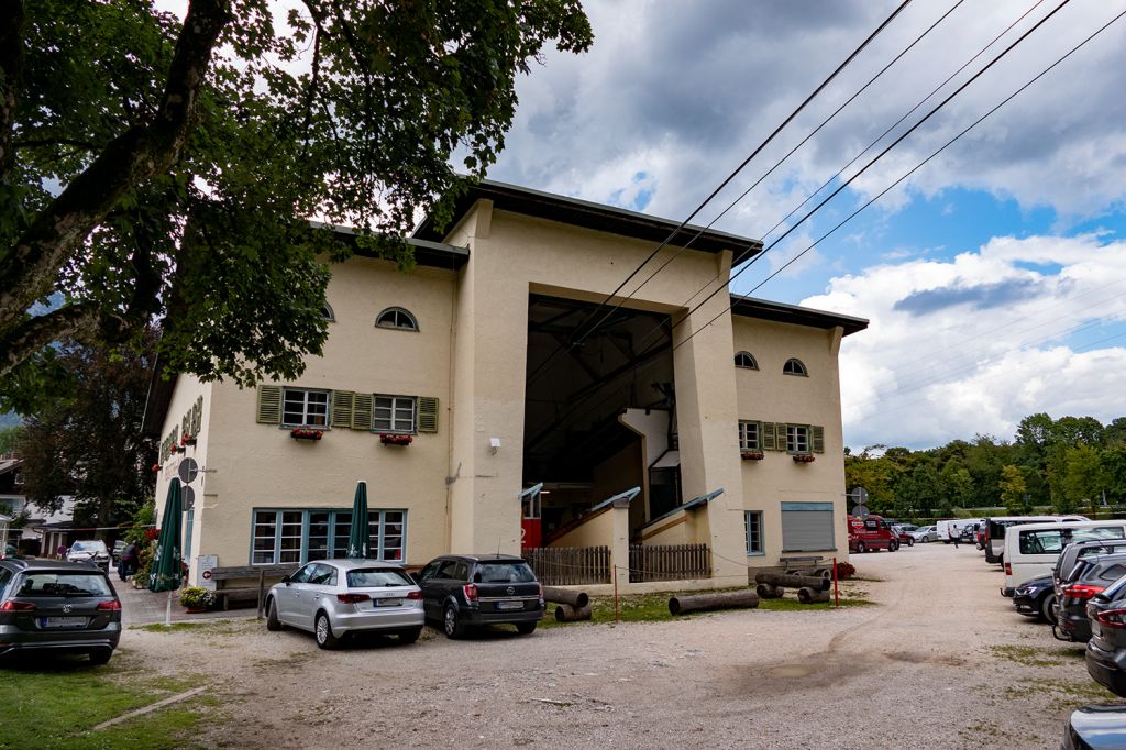
[[[694,224],[683,226],[670,239],[670,235],[680,226],[680,222],[493,180],[482,180],[477,185],[471,186],[468,191],[458,198],[450,226],[455,225],[481,198],[492,200],[493,205],[502,211],[548,218],[611,234],[622,234],[652,242],[668,240],[668,243],[673,247],[690,245],[694,250],[705,252],[732,250],[743,260],[762,250],[762,242],[759,240]],[[437,241],[445,238],[445,231],[439,232],[434,225],[432,215],[427,215],[414,230],[413,236]]]

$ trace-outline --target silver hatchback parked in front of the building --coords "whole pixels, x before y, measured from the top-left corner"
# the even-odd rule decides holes
[[[375,560],[318,560],[270,588],[266,627],[309,631],[332,649],[350,633],[384,632],[403,643],[422,633],[422,591],[399,565]]]

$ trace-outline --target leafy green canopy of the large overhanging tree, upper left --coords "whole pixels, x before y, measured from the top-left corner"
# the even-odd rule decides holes
[[[349,251],[309,220],[409,267],[418,212],[495,160],[517,73],[592,41],[579,0],[292,5],[0,2],[6,389],[154,319],[173,372],[293,378],[325,338],[320,259]]]

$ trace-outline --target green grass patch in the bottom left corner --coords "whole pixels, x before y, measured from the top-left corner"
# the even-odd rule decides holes
[[[115,657],[115,660],[122,657]],[[169,678],[127,664],[93,667],[84,658],[43,658],[3,664],[0,681],[0,748],[87,750],[95,748],[194,748],[191,738],[204,708],[217,705],[200,695],[105,730],[93,726],[149,706],[197,685],[203,677]],[[214,721],[214,716],[208,716]],[[34,739],[33,739],[34,738]]]

